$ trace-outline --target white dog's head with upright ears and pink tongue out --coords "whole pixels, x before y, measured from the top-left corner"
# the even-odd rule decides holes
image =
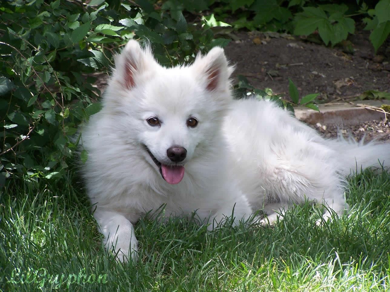
[[[103,100],[123,139],[142,149],[145,160],[170,184],[185,165],[213,145],[232,95],[232,72],[223,49],[198,55],[189,66],[165,68],[149,47],[130,40],[115,58]]]

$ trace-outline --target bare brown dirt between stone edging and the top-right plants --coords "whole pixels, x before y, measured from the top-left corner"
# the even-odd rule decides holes
[[[320,102],[355,97],[365,90],[390,91],[390,39],[374,55],[369,32],[357,31],[346,47],[325,47],[291,35],[239,32],[225,48],[235,75],[255,88],[288,97],[288,78],[301,96],[320,93]],[[353,55],[345,53],[353,49]]]

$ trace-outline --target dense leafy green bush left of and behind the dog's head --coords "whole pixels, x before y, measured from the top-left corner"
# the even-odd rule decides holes
[[[0,4],[0,185],[10,177],[66,179],[76,148],[69,137],[100,109],[92,73],[108,71],[112,55],[129,39],[150,40],[163,65],[191,61],[194,52],[229,42],[213,39],[207,19],[190,25],[171,8],[147,1]]]

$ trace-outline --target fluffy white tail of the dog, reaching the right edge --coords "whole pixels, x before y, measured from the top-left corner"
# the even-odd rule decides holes
[[[329,141],[330,146],[339,154],[339,171],[347,176],[359,173],[367,167],[390,170],[390,143],[372,141],[367,144],[354,139]]]

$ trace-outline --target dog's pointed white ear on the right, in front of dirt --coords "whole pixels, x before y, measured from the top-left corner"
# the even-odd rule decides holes
[[[193,68],[208,90],[229,89],[229,77],[234,67],[229,66],[221,47],[214,47],[206,56],[198,55],[193,63]]]

